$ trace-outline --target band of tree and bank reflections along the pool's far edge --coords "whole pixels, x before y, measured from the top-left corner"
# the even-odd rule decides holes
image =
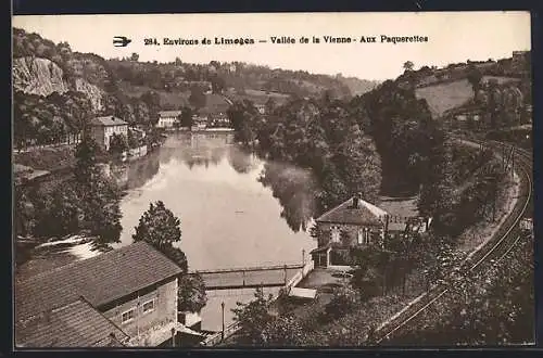
[[[131,190],[149,183],[157,176],[161,165],[167,167],[169,163],[178,163],[194,170],[225,165],[224,161],[239,175],[254,176],[256,172],[256,180],[269,188],[273,196],[279,201],[280,217],[294,232],[306,230],[315,213],[314,197],[317,191],[311,171],[289,164],[265,163],[233,145],[229,133],[175,133],[161,149],[143,158],[112,165],[110,172],[121,186]],[[218,180],[226,178],[224,172],[213,172],[219,175],[216,178]],[[206,181],[204,176],[202,174],[201,181]]]

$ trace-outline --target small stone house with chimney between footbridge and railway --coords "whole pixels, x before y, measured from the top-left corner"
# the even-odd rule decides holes
[[[388,202],[383,204],[391,205]],[[396,215],[362,200],[357,194],[315,219],[318,247],[312,251],[316,266],[349,265],[352,247],[383,246],[390,235],[424,232],[431,220],[417,213]]]

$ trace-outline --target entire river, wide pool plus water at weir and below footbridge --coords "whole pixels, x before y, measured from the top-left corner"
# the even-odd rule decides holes
[[[305,230],[313,214],[311,174],[242,151],[231,133],[172,133],[156,151],[112,166],[111,172],[126,187],[121,243],[114,247],[132,242],[139,218],[156,201],[180,219],[178,245],[189,270],[301,264],[302,251],[307,257],[317,245]],[[47,247],[45,255],[38,250],[22,269],[37,271],[49,268],[51,259],[65,264],[68,257],[94,255],[88,248],[79,243],[58,251]],[[230,308],[237,301],[251,301],[252,291],[209,296],[203,329],[215,331],[222,324],[220,302],[228,324]]]

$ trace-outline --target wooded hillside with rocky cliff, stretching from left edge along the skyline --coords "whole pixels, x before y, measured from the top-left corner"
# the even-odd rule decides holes
[[[368,90],[358,79],[286,71],[242,62],[189,64],[105,60],[72,51],[39,34],[13,29],[13,87],[16,141],[54,143],[80,133],[94,115],[116,115],[152,125],[162,110],[206,106],[203,93],[229,101],[278,103],[325,93],[349,99]],[[353,88],[353,92],[351,91]],[[227,101],[228,103],[228,101]]]

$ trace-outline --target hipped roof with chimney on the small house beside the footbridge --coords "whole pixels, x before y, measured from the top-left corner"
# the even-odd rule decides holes
[[[317,222],[333,222],[333,223],[352,223],[352,225],[382,225],[384,216],[388,215],[383,209],[358,199],[358,207],[353,207],[351,197],[344,203],[336,206],[318,217]]]

